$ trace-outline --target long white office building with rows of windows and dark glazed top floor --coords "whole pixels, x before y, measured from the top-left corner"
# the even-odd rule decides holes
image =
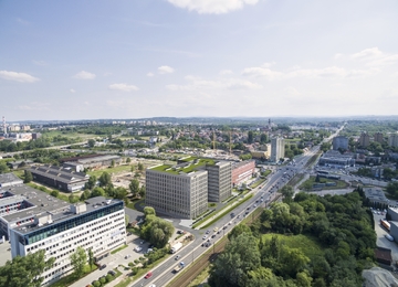
[[[70,256],[78,246],[101,257],[126,243],[124,203],[98,196],[32,214],[31,220],[12,226],[10,243],[12,258],[41,249],[46,258],[55,258],[53,267],[42,274],[48,286],[73,272]]]

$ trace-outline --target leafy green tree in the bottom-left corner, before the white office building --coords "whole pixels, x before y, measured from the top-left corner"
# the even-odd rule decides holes
[[[41,275],[51,268],[55,258],[45,261],[45,251],[29,253],[27,256],[17,256],[0,267],[0,286],[7,287],[40,287],[43,283]]]

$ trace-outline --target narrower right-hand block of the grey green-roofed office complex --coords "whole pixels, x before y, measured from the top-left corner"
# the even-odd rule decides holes
[[[206,164],[208,171],[208,201],[222,202],[232,194],[232,163],[216,161]]]

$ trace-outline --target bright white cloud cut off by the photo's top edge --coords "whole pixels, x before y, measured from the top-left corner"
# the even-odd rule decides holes
[[[169,3],[197,11],[199,14],[223,14],[242,9],[244,4],[254,6],[259,0],[167,0]]]

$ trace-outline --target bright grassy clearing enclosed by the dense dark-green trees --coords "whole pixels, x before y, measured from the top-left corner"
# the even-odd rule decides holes
[[[315,237],[303,234],[287,236],[275,233],[264,234],[262,237],[271,241],[272,236],[277,236],[282,243],[291,248],[300,248],[310,258],[324,255],[323,248]]]

